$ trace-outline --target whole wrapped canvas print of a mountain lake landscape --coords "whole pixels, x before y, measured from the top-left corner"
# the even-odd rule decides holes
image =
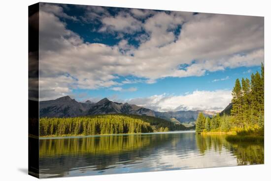
[[[264,164],[264,17],[29,6],[29,174]]]

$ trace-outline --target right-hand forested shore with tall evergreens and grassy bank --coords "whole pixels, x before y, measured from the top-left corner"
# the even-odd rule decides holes
[[[232,91],[232,109],[205,117],[200,113],[196,132],[203,134],[227,133],[227,141],[264,141],[264,65],[261,73],[251,74],[251,79],[236,80]]]

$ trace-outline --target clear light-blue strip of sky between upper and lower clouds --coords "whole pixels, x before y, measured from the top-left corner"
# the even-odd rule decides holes
[[[208,90],[215,91],[219,89],[232,90],[237,78],[250,78],[251,73],[260,72],[260,67],[240,67],[236,69],[226,69],[225,71],[208,72],[204,76],[191,76],[191,77],[167,77],[158,79],[154,84],[146,83],[131,83],[125,84],[122,87],[129,89],[136,88],[136,91],[114,91],[110,88],[103,88],[97,90],[88,89],[74,89],[72,93],[79,101],[84,101],[85,97],[97,97],[102,99],[104,97],[116,97],[122,100],[129,100],[132,98],[149,97],[152,95],[160,95],[167,93],[169,95],[185,95],[192,93],[195,90]],[[117,80],[123,81],[126,77],[120,77]],[[135,77],[129,77],[133,79]],[[82,97],[84,95],[84,97]]]

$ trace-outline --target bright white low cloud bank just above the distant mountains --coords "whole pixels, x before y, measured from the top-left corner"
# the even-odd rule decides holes
[[[145,98],[125,100],[130,104],[157,111],[171,110],[223,110],[232,100],[232,91],[215,90],[186,93],[181,96],[153,95]]]

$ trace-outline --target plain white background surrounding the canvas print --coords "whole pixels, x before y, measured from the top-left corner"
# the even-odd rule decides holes
[[[4,0],[0,5],[0,180],[36,180],[28,167],[28,5],[36,0]],[[271,5],[269,0],[48,0],[162,10],[265,16],[265,165],[105,176],[48,181],[207,180],[266,181],[271,174]]]

